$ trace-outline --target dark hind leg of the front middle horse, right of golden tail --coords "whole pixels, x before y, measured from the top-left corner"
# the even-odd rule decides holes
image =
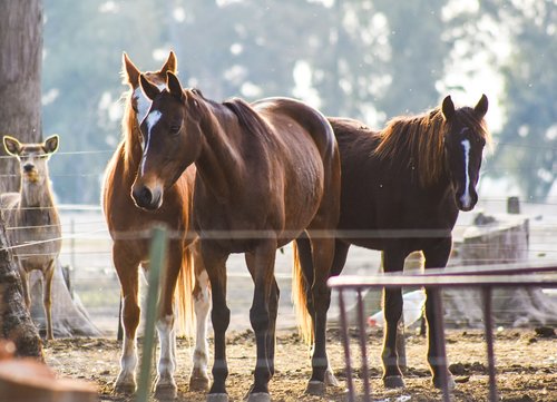
[[[338,384],[332,371],[329,367],[329,357],[326,355],[326,312],[331,305],[331,290],[326,285],[326,281],[331,275],[335,242],[332,236],[323,236],[322,234],[312,237],[311,232],[310,239],[313,258],[313,284],[311,286],[311,298],[313,300],[315,314],[312,316],[314,334],[312,376],[307,384],[306,392],[312,394],[323,394],[325,390],[325,373],[330,384]]]

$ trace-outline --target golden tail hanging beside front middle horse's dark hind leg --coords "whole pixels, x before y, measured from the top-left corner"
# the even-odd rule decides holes
[[[292,243],[292,253],[294,256],[292,268],[292,302],[296,314],[296,323],[300,336],[307,343],[313,343],[313,325],[310,312],[307,311],[307,283],[300,262],[300,253],[296,242]]]

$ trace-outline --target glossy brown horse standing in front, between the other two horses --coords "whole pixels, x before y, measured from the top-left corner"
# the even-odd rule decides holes
[[[197,90],[183,90],[174,73],[167,77],[163,91],[140,80],[153,105],[141,122],[144,154],[133,195],[138,206],[156,209],[176,178],[195,164],[193,216],[211,280],[215,331],[208,399],[227,400],[226,259],[231,253],[245,253],[255,284],[250,321],[257,349],[250,400],[268,401],[278,303],[275,253],[303,231],[314,251],[313,327],[324,345],[334,247],[329,231],[336,226],[340,203],[336,141],[329,121],[303,102],[270,98],[252,105],[241,99],[217,104]],[[322,382],[324,347],[315,349],[312,364],[313,379]]]

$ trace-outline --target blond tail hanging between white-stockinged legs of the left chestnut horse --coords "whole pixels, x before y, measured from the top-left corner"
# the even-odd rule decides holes
[[[194,288],[194,256],[189,247],[184,246],[182,267],[174,291],[177,315],[177,333],[187,337],[194,336],[195,315],[192,292]]]

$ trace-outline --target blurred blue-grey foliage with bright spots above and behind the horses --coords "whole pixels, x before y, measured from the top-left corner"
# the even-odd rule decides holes
[[[373,127],[486,92],[485,176],[543,199],[557,175],[557,2],[458,0],[45,0],[43,127],[62,203],[98,203],[120,140],[121,52],[145,70],[174,49],[183,82],[215,100],[293,96]],[[86,153],[85,153],[86,151]]]

